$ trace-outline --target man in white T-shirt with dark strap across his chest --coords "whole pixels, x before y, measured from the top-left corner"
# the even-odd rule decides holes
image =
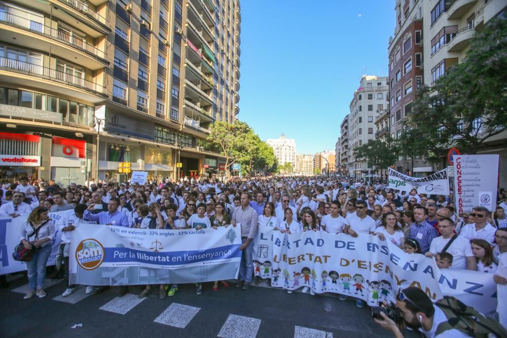
[[[425,253],[426,257],[436,257],[439,252],[442,252],[444,248],[445,252],[452,255],[452,266],[451,269],[468,269],[477,270],[477,260],[472,253],[472,246],[470,240],[460,235],[454,235],[454,229],[456,228],[452,219],[448,217],[441,217],[439,228],[442,236],[433,238],[429,245],[429,251]],[[454,240],[446,248],[449,241]]]

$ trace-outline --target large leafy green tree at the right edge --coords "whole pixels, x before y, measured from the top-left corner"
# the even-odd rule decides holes
[[[439,163],[450,147],[476,154],[507,128],[507,20],[491,19],[470,43],[463,62],[431,87],[418,89],[407,128],[421,155]],[[410,141],[410,138],[405,139]],[[403,142],[401,142],[403,143]]]

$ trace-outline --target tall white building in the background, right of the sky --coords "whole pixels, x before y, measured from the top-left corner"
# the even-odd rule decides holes
[[[348,116],[349,157],[347,160],[348,174],[363,177],[372,168],[367,161],[357,160],[354,149],[375,138],[377,127],[375,121],[386,108],[386,97],[389,93],[387,77],[366,76],[361,78],[359,88],[354,92],[350,102]]]

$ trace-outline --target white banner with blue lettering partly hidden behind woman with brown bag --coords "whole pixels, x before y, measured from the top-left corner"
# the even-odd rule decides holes
[[[51,212],[49,217],[56,225],[64,213],[65,211]],[[2,263],[0,275],[26,270],[26,262],[14,260],[12,253],[20,242],[21,227],[26,223],[27,217],[28,214],[16,218],[0,219],[0,262]],[[61,233],[58,231],[58,227],[55,228],[55,237],[51,242],[52,250],[48,259],[48,266],[55,265],[55,258],[60,245]]]

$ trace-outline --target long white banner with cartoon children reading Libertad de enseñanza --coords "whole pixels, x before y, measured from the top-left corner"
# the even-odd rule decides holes
[[[358,297],[370,306],[394,301],[400,288],[416,286],[437,301],[452,295],[482,313],[496,309],[491,274],[442,269],[434,259],[409,254],[377,236],[307,231],[287,235],[260,226],[254,241],[254,273],[287,290],[308,286],[316,293]]]

